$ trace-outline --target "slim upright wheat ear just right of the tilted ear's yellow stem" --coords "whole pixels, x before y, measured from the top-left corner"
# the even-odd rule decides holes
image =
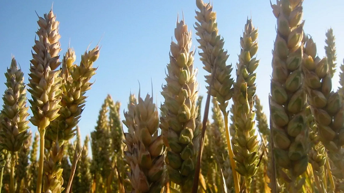
[[[255,130],[255,112],[253,111],[253,97],[256,87],[256,73],[258,60],[253,58],[258,50],[258,30],[247,20],[243,37],[240,38],[241,52],[237,63],[236,83],[233,95],[233,116],[236,138],[233,140],[236,171],[245,177],[246,190],[250,192],[252,176],[257,172],[259,162],[258,140]],[[251,67],[254,65],[254,67]],[[253,90],[253,91],[249,91]]]

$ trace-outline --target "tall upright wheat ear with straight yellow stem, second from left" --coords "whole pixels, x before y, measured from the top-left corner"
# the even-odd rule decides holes
[[[46,127],[59,116],[61,78],[59,77],[60,72],[56,69],[61,63],[58,55],[61,49],[60,35],[58,34],[59,22],[56,21],[53,10],[48,14],[44,14],[44,18],[39,17],[37,23],[39,26],[36,32],[38,40],[35,40],[35,45],[32,48],[35,54],[32,53],[33,59],[31,60],[28,84],[30,89],[28,91],[32,96],[32,100],[29,100],[33,113],[30,121],[34,126],[38,127],[40,134],[36,193],[41,193]]]

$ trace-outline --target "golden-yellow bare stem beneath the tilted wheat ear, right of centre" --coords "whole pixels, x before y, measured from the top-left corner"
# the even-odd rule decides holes
[[[227,145],[228,145],[228,152],[229,152],[229,160],[230,160],[230,166],[232,168],[233,173],[233,180],[234,180],[234,187],[235,187],[235,193],[240,192],[240,183],[239,183],[239,175],[235,170],[235,162],[234,162],[234,153],[232,149],[232,145],[230,142],[230,136],[229,136],[229,128],[228,128],[228,115],[226,112],[223,112],[224,118],[225,118],[225,130],[226,130],[226,139],[227,139]]]

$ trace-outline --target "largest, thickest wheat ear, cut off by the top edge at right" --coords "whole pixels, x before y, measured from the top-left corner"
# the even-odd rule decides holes
[[[301,71],[303,0],[277,0],[271,5],[277,18],[277,37],[272,61],[270,114],[276,163],[288,169],[289,191],[302,187],[297,177],[308,165],[308,128],[305,123],[306,95]]]

